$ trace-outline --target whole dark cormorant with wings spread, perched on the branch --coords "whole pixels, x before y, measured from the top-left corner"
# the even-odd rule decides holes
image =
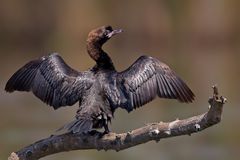
[[[86,48],[96,62],[92,68],[77,71],[58,53],[51,53],[17,70],[5,90],[32,92],[54,109],[79,102],[74,120],[61,127],[71,133],[104,129],[107,134],[117,108],[131,112],[156,97],[194,101],[187,84],[168,65],[151,56],[140,56],[126,70],[117,71],[102,46],[122,31],[110,25],[90,31]]]

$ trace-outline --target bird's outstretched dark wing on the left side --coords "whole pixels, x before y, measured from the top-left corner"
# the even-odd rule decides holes
[[[91,87],[93,79],[87,73],[70,68],[57,54],[28,62],[8,80],[7,92],[32,91],[54,109],[73,105]]]

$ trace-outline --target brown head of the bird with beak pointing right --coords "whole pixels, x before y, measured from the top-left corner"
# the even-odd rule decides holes
[[[96,45],[103,45],[107,40],[109,40],[112,36],[121,33],[122,29],[112,29],[111,26],[102,26],[92,30],[88,34],[88,43],[94,43]]]

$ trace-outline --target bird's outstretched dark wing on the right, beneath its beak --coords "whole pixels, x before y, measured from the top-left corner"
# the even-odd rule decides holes
[[[108,98],[113,106],[128,111],[143,106],[157,95],[185,103],[194,100],[193,92],[183,80],[166,64],[152,57],[140,57],[116,77],[116,91],[108,94]]]

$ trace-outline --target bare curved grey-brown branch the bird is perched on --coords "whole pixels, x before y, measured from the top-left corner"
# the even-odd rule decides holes
[[[97,133],[50,136],[11,153],[8,160],[37,160],[54,153],[80,149],[120,151],[152,140],[158,142],[163,138],[191,135],[221,121],[226,98],[218,96],[216,86],[213,86],[213,96],[208,102],[209,110],[204,114],[172,122],[152,123],[127,133],[109,133],[101,137]]]

